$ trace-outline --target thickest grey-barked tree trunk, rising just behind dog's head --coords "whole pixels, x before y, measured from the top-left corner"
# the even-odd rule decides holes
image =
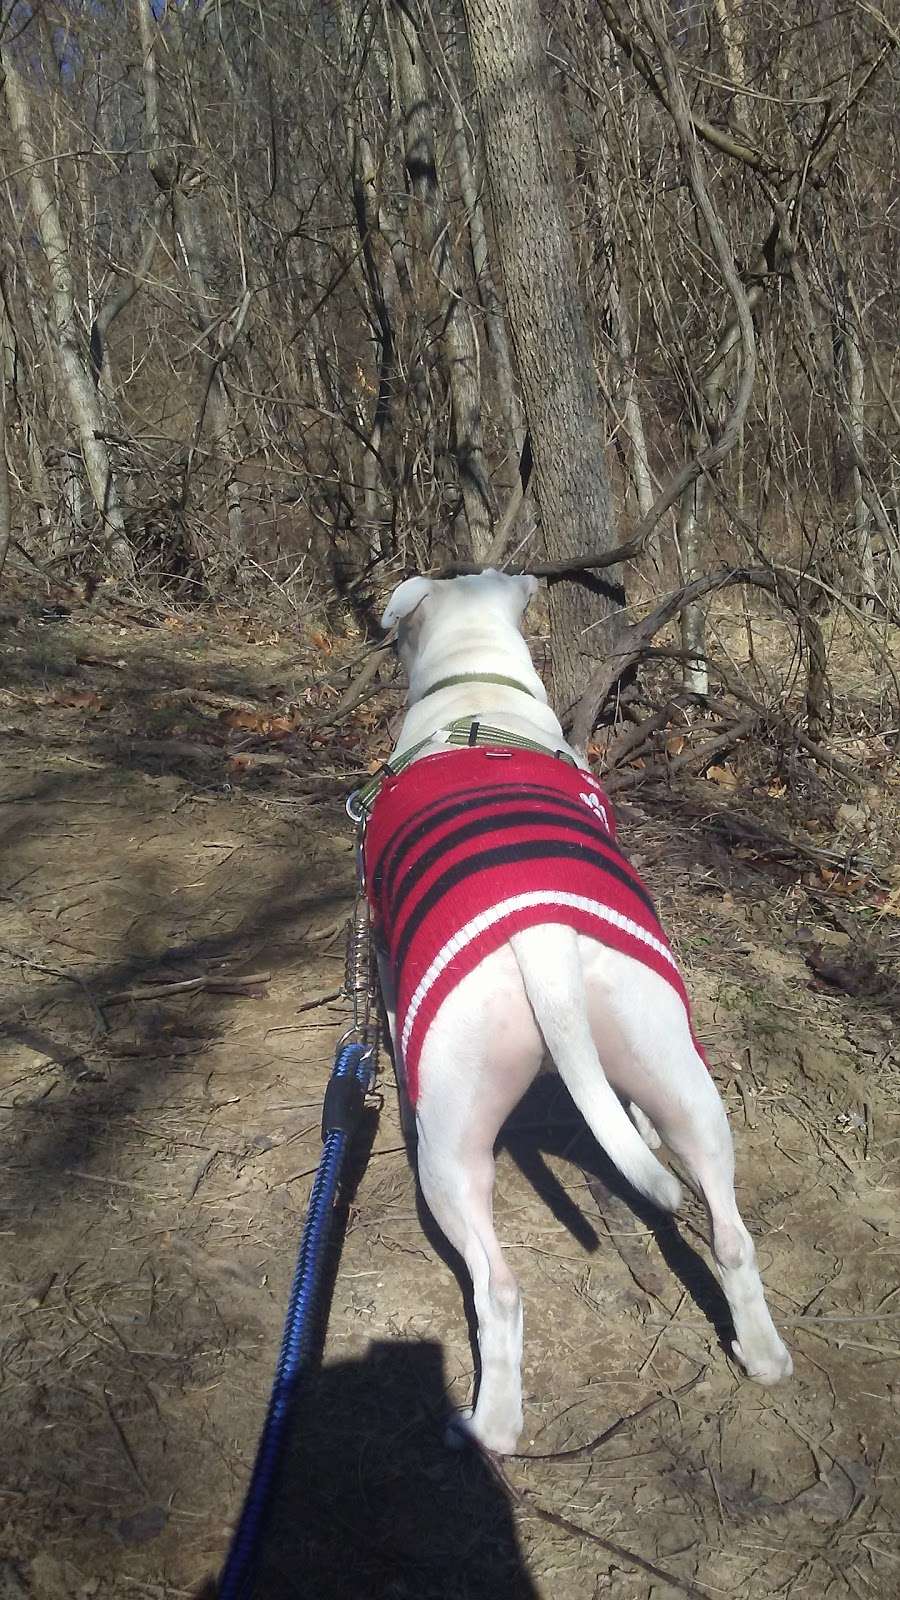
[[[509,330],[551,560],[617,542],[536,0],[463,0]],[[620,570],[551,584],[552,693],[569,717],[609,645]]]

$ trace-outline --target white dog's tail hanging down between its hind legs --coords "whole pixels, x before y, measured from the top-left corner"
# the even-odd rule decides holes
[[[577,938],[556,923],[514,933],[509,942],[544,1043],[591,1133],[629,1184],[665,1211],[676,1211],[677,1178],[647,1149],[601,1066]]]

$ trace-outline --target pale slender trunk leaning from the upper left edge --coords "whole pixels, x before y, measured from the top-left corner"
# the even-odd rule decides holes
[[[110,558],[115,568],[130,578],[135,574],[135,558],[125,534],[109,453],[102,437],[104,419],[99,397],[78,328],[75,285],[69,250],[62,235],[59,208],[56,197],[43,178],[45,166],[32,139],[26,85],[5,50],[0,50],[0,72],[3,74],[3,91],[19,158],[27,170],[34,226],[37,227],[50,272],[50,310],[56,334],[56,363],[66,394],[69,418],[78,435],[88,483],[102,520]]]

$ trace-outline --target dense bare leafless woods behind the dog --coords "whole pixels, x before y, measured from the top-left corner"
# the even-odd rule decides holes
[[[897,618],[898,38],[865,0],[8,6],[0,549],[367,627],[410,570],[591,562],[551,590],[581,741],[679,611],[709,690],[740,576],[820,739],[815,616]]]

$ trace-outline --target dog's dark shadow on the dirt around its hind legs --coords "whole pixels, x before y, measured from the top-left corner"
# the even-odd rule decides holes
[[[412,1139],[407,1136],[407,1149],[415,1168],[415,1136]],[[653,1235],[665,1264],[706,1317],[725,1355],[730,1355],[735,1328],[729,1302],[708,1262],[687,1242],[684,1222],[679,1224],[676,1218],[660,1211],[631,1187],[591,1134],[569,1090],[556,1074],[541,1074],[532,1085],[500,1134],[500,1150],[509,1154],[560,1227],[585,1251],[594,1253],[604,1245],[612,1248],[613,1235],[621,1234],[623,1213],[631,1213],[637,1222],[644,1224]],[[601,1227],[594,1224],[589,1211],[572,1198],[549,1166],[548,1158],[570,1162],[573,1173],[583,1174],[591,1197],[589,1206],[594,1214],[599,1213]],[[418,1190],[418,1213],[428,1242],[460,1282],[477,1365],[477,1323],[469,1275],[434,1222],[421,1190]],[[620,1254],[628,1266],[628,1253],[620,1250]],[[649,1278],[661,1278],[661,1274],[653,1269],[652,1258],[647,1259],[644,1250],[641,1259],[647,1262],[647,1267],[637,1286],[645,1288]]]

